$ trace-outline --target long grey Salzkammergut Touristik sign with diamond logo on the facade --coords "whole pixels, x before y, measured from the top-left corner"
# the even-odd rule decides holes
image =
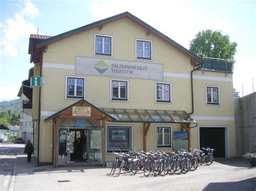
[[[76,74],[163,80],[163,65],[76,56]]]

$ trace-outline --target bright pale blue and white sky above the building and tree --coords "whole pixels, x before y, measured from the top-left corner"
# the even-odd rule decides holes
[[[255,0],[2,0],[0,101],[18,98],[21,82],[28,79],[33,67],[29,37],[37,34],[37,28],[39,34],[56,36],[125,11],[187,49],[201,30],[228,34],[238,44],[233,86],[240,96],[256,91]]]

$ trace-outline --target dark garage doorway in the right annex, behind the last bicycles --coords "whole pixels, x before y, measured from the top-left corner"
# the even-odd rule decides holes
[[[214,149],[214,158],[225,158],[225,128],[200,127],[200,147]]]

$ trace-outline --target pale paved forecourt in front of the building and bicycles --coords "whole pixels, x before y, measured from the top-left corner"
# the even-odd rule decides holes
[[[256,168],[245,159],[217,160],[181,175],[117,177],[107,175],[109,168],[37,167],[20,151],[9,190],[256,190]]]

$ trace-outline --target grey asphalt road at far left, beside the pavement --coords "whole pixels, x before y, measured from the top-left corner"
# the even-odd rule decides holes
[[[0,190],[8,190],[17,153],[24,144],[0,143]]]

